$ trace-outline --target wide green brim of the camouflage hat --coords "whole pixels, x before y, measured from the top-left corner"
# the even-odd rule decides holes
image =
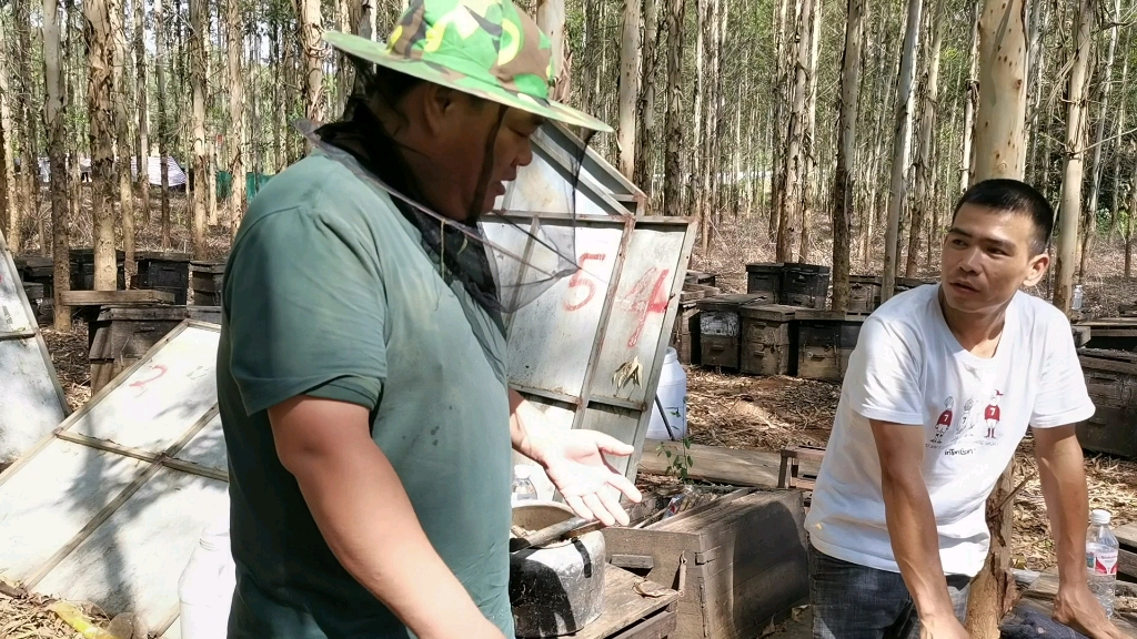
[[[478,77],[464,75],[460,82],[456,81],[445,70],[440,70],[428,61],[388,53],[387,47],[382,42],[335,31],[324,32],[323,38],[329,44],[345,53],[426,82],[454,89],[455,91],[462,91],[463,93],[470,93],[478,98],[491,100],[564,124],[583,126],[584,128],[591,128],[601,133],[611,133],[613,131],[604,122],[561,102],[553,100],[539,101],[536,98],[523,93],[515,93],[497,83],[483,81]]]

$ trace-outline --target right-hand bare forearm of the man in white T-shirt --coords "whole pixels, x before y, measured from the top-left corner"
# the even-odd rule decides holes
[[[1036,431],[1035,455],[1057,549],[1059,579],[1078,584],[1086,581],[1086,522],[1089,521],[1086,470],[1073,428],[1060,429]]]

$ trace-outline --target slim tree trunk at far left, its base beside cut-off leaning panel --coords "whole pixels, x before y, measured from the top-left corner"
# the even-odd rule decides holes
[[[67,150],[63,77],[64,57],[59,45],[59,0],[43,0],[43,126],[48,133],[48,163],[51,191],[51,249],[55,276],[55,329],[70,331],[70,309],[61,304],[70,289],[70,207],[67,204]],[[2,201],[0,201],[2,205]]]

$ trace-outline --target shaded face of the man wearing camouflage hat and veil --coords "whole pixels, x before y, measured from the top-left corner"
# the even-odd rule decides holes
[[[493,143],[489,182],[479,184],[487,140],[498,124],[501,108],[495,102],[479,101],[448,90],[428,91],[425,100],[426,130],[414,148],[423,152],[430,166],[420,174],[425,196],[439,213],[453,219],[468,219],[493,208],[498,196],[505,194],[505,182],[517,176],[517,168],[533,160],[530,138],[542,119],[517,109],[506,109]],[[422,173],[422,172],[421,172]],[[471,202],[483,193],[476,210]]]

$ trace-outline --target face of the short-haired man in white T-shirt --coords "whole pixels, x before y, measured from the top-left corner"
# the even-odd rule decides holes
[[[944,298],[964,313],[995,312],[1046,273],[1029,215],[965,204],[944,238]]]

